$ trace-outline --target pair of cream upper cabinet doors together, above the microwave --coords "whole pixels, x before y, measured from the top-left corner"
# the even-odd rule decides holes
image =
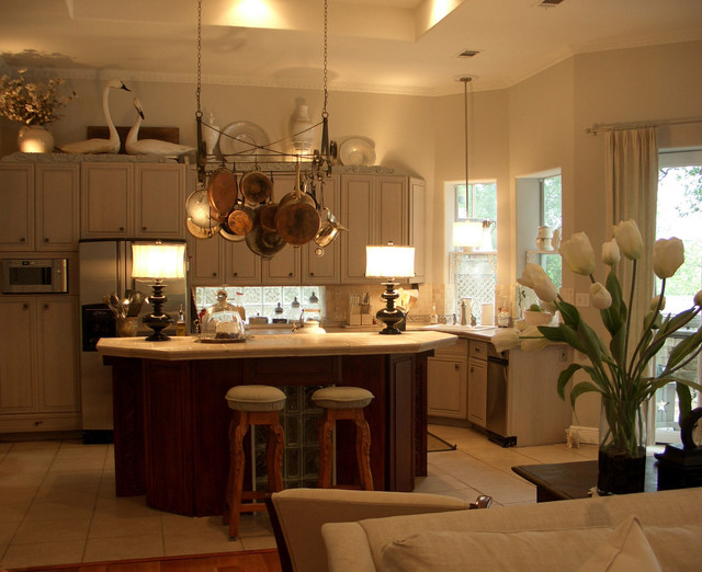
[[[78,250],[79,165],[0,165],[0,250]]]

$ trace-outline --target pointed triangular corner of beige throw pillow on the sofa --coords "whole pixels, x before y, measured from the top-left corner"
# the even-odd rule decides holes
[[[578,572],[661,572],[636,516],[620,524]]]

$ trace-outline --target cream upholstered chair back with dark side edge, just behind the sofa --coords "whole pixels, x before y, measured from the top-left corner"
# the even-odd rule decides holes
[[[321,525],[408,514],[462,511],[467,501],[427,493],[286,489],[267,501],[283,570],[326,572]]]

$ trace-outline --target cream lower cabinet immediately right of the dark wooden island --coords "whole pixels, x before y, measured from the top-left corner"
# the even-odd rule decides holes
[[[427,358],[427,412],[431,416],[467,419],[468,341],[441,347]]]

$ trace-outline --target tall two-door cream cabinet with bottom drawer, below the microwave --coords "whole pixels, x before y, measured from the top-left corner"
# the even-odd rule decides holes
[[[80,428],[78,300],[0,298],[0,432]]]

